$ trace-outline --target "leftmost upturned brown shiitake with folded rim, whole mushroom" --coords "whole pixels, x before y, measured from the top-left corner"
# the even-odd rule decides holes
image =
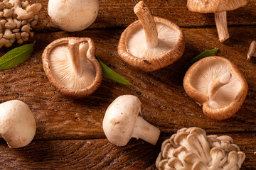
[[[68,54],[65,53],[67,52],[65,46],[68,47],[68,43],[70,42],[70,40],[79,43],[78,55],[80,57],[78,57],[78,60],[76,60],[76,62],[71,62],[71,60],[69,60],[70,58],[68,58]],[[63,54],[61,52],[63,52]],[[53,59],[51,58],[53,53],[55,53],[55,55],[60,55],[59,58],[55,59],[55,62],[53,62]],[[83,98],[92,94],[101,84],[102,68],[100,66],[100,63],[95,58],[95,43],[91,38],[70,37],[55,40],[51,42],[50,45],[48,45],[43,51],[42,60],[43,69],[46,72],[46,76],[48,77],[50,83],[53,84],[53,86],[55,86],[55,88],[58,89],[58,91],[60,91],[60,93],[64,96],[68,96],[70,98]],[[65,62],[67,61],[70,63],[66,64]],[[65,64],[65,68],[62,64]],[[73,64],[78,64],[80,66],[80,70],[78,71],[80,72],[79,75],[74,73],[76,70],[74,69],[74,67],[72,67]],[[93,69],[92,72],[88,72],[87,68],[85,67],[91,67]],[[67,74],[57,74],[56,72],[58,69],[65,69],[66,72],[70,72],[73,77],[66,81],[76,81],[74,82],[74,84],[79,83],[79,79],[86,74],[92,74],[92,81],[90,81],[89,84],[87,82],[82,82],[82,88],[78,88],[78,86],[74,86],[74,84],[63,84],[63,78],[65,79],[65,77],[67,77]]]

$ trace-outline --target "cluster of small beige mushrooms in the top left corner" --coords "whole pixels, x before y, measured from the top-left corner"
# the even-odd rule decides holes
[[[28,1],[4,0],[0,2],[0,48],[11,47],[17,40],[21,45],[32,38],[31,28],[38,23],[41,4],[29,4]]]

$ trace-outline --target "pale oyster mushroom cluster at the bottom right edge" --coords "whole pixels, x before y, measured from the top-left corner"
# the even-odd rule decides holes
[[[240,169],[245,153],[230,136],[208,135],[201,128],[183,128],[165,140],[156,159],[158,169]]]

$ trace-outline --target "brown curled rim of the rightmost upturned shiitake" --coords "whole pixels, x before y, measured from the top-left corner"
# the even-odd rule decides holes
[[[231,69],[232,73],[241,84],[241,89],[240,91],[238,91],[238,94],[235,97],[234,101],[230,103],[229,106],[220,109],[210,108],[207,102],[208,96],[195,89],[190,82],[191,77],[193,76],[193,72],[198,67],[200,67],[203,62],[208,62],[210,60],[221,60],[225,62],[225,64],[228,64],[228,67]],[[233,62],[230,62],[230,60],[225,59],[224,57],[218,56],[206,57],[193,64],[185,74],[185,77],[183,79],[183,87],[188,96],[193,98],[194,101],[203,104],[203,113],[205,113],[208,118],[212,118],[215,120],[224,120],[235,115],[235,113],[237,113],[242,106],[242,103],[244,103],[248,90],[247,81],[245,80],[245,77],[242,75],[240,70],[235,66],[235,64],[233,64]]]

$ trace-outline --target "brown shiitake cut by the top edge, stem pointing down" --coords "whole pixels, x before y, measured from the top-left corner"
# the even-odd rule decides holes
[[[233,11],[245,6],[247,0],[188,0],[188,10],[199,13],[215,13],[215,23],[220,42],[227,40],[227,11]]]

